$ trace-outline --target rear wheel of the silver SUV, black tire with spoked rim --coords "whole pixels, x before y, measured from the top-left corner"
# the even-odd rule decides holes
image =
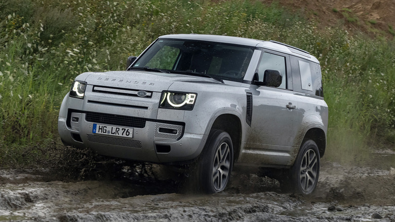
[[[290,191],[308,195],[317,187],[320,176],[320,151],[313,140],[308,139],[302,143],[290,173],[287,184]]]

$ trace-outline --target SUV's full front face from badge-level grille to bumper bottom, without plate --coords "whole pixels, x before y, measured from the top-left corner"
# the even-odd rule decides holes
[[[158,109],[160,96],[155,92],[151,98],[105,94],[88,85],[84,99],[64,97],[58,118],[60,138],[67,145],[116,158],[154,163],[195,159],[207,135],[197,132],[189,118],[184,120],[184,111]],[[133,128],[133,138],[95,134],[93,124]]]

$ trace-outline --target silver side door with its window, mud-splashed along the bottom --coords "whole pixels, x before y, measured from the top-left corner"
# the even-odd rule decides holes
[[[279,87],[269,87],[252,82],[247,93],[252,97],[251,127],[240,161],[291,165],[297,135],[295,110],[298,104],[293,100],[290,56],[262,49],[256,69],[258,81],[263,81],[267,69],[278,70],[283,76],[282,83]]]

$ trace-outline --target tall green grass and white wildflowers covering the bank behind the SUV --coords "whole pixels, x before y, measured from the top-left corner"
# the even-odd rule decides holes
[[[61,145],[59,106],[79,73],[125,69],[157,36],[192,32],[276,40],[316,56],[330,108],[326,158],[395,142],[393,40],[317,30],[259,1],[2,0],[0,166],[63,158],[46,147]]]

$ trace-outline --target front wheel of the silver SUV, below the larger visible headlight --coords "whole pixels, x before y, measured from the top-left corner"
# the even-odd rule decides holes
[[[233,145],[229,134],[212,130],[198,161],[198,183],[207,194],[223,191],[233,167]]]

